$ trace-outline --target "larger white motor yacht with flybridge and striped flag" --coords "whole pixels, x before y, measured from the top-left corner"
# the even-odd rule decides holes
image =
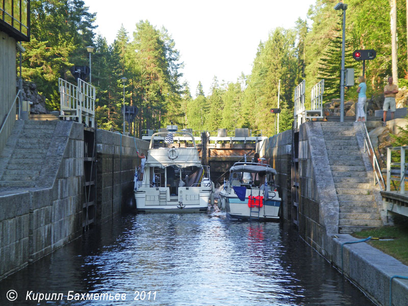
[[[151,136],[143,179],[136,185],[139,212],[207,211],[212,193],[210,169],[202,166],[194,137],[173,132],[179,143],[165,143],[167,132]]]

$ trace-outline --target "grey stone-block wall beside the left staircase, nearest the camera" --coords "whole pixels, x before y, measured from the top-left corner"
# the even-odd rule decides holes
[[[58,122],[45,161],[38,187],[0,193],[0,278],[82,234],[83,126]]]

